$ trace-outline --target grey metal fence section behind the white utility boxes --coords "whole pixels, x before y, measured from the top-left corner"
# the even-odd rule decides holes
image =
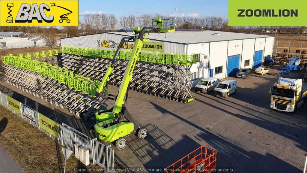
[[[75,143],[80,144],[82,147],[86,148],[89,150],[90,152],[90,163],[91,164],[95,164],[95,155],[93,154],[93,145],[92,145],[92,140],[91,137],[84,135],[83,133],[81,133],[80,131],[77,131],[76,129],[69,127],[68,125],[62,123],[61,126],[61,130],[62,130],[62,136],[63,136],[63,143],[62,145],[64,145],[67,149],[74,151],[75,147]]]

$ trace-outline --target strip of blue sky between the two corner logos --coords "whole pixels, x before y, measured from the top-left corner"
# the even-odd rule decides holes
[[[79,14],[100,12],[122,15],[174,14],[179,16],[218,16],[227,18],[228,0],[79,0]]]

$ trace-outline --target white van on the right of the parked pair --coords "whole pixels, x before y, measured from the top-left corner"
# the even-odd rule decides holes
[[[236,93],[238,89],[238,82],[235,80],[224,80],[220,82],[214,88],[214,95],[220,95],[222,97],[227,97],[232,93]]]

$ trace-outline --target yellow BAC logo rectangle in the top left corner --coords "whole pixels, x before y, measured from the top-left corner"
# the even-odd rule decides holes
[[[0,26],[78,25],[78,0],[0,1]]]

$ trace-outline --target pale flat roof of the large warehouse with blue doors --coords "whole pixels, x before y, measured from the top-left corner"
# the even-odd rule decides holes
[[[132,32],[128,32],[128,33],[110,32],[110,33],[120,34],[120,35],[125,35],[125,36],[133,36]],[[240,39],[248,39],[248,38],[265,38],[265,37],[274,37],[274,36],[211,31],[211,30],[180,31],[180,32],[150,34],[150,39],[153,39],[153,40],[183,43],[183,44],[240,40]]]

